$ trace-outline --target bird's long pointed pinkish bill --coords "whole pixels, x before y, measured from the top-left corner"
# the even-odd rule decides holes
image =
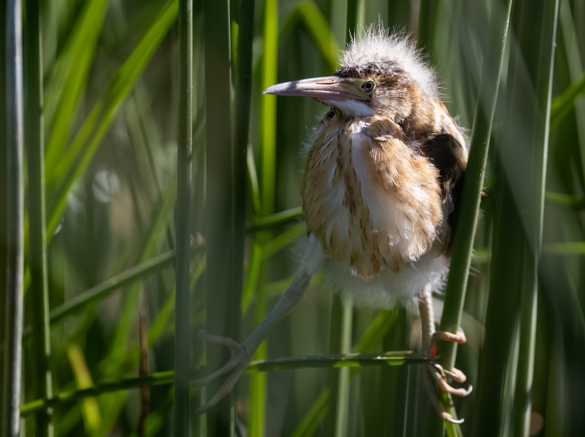
[[[263,94],[277,96],[301,96],[319,100],[343,102],[347,99],[364,98],[364,93],[353,78],[337,76],[301,79],[300,81],[283,82],[266,88]]]

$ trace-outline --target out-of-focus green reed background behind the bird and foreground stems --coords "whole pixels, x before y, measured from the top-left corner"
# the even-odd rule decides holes
[[[205,363],[204,345],[197,332],[206,325],[210,330],[211,323],[223,323],[206,322],[206,306],[228,306],[225,314],[241,310],[239,335],[245,338],[294,278],[295,257],[300,256],[294,250],[295,242],[306,233],[299,196],[304,170],[301,146],[326,108],[311,99],[262,96],[262,89],[276,82],[332,74],[339,50],[345,47],[348,28],[353,32],[356,24],[377,22],[379,17],[386,27],[405,29],[419,41],[436,68],[449,112],[459,117],[460,125],[470,135],[490,39],[490,16],[495,8],[505,8],[503,1],[491,0],[256,1],[252,32],[243,41],[252,47],[252,88],[245,157],[247,189],[240,186],[236,196],[245,196],[240,205],[245,205],[246,211],[241,207],[235,211],[235,220],[246,229],[243,258],[238,260],[243,268],[242,299],[223,300],[226,293],[219,290],[217,296],[221,297],[214,303],[209,300],[214,296],[217,270],[208,272],[212,291],[207,296],[205,293],[207,232],[214,226],[210,221],[216,226],[229,226],[230,219],[214,217],[214,211],[218,211],[216,199],[206,196],[214,193],[210,181],[221,185],[238,175],[227,158],[228,165],[221,171],[214,169],[209,174],[208,168],[206,174],[206,144],[209,151],[219,131],[230,132],[240,109],[230,106],[228,100],[228,106],[223,107],[225,124],[214,119],[206,126],[205,99],[223,95],[233,98],[238,92],[236,89],[234,93],[233,85],[237,83],[243,1],[208,5],[208,11],[216,9],[219,15],[229,9],[229,32],[212,27],[214,21],[204,18],[203,1],[194,0],[193,4],[191,352],[184,351],[193,376]],[[49,367],[53,392],[61,393],[174,369],[177,2],[47,0],[41,4]],[[550,2],[512,4],[484,183],[486,196],[481,199],[462,321],[468,342],[457,354],[457,367],[475,387],[471,396],[456,400],[459,417],[466,419],[463,435],[481,435],[474,424],[479,423],[481,415],[490,417],[490,409],[500,435],[519,435],[515,424],[518,415],[524,414],[524,410],[518,413],[514,409],[517,366],[526,356],[521,341],[525,331],[518,321],[523,320],[522,286],[515,287],[513,282],[524,261],[510,259],[512,252],[493,241],[494,223],[500,217],[498,202],[510,211],[516,208],[521,217],[531,213],[518,206],[522,200],[514,197],[515,186],[532,181],[524,172],[524,159],[531,159],[532,146],[522,143],[522,138],[548,122],[535,122],[531,117],[531,108],[543,100],[539,100],[538,89],[531,82],[534,67],[515,57],[538,51],[544,44],[538,32],[531,39],[525,30],[531,13],[538,15],[544,4]],[[25,32],[27,13],[30,11],[25,10]],[[553,17],[548,18],[553,21]],[[535,29],[539,27],[535,25]],[[205,53],[204,36],[214,34],[230,44],[231,84],[214,80],[215,75],[210,74],[217,69],[217,78],[221,78],[226,68],[219,61],[221,54],[215,63],[214,54]],[[545,159],[543,243],[542,252],[536,253],[539,287],[532,336],[534,384],[529,387],[529,435],[535,436],[585,435],[583,60],[585,2],[560,0],[552,96],[544,100],[552,109],[547,132],[548,163]],[[524,84],[526,95],[534,100],[512,105],[511,95],[524,92],[515,88],[519,84]],[[229,145],[218,144],[218,148],[222,153],[229,151]],[[518,200],[516,206],[505,202],[508,197],[498,188],[502,179],[512,186],[511,199]],[[530,189],[519,190],[519,196]],[[534,186],[536,192],[538,189]],[[498,223],[501,226],[502,221]],[[226,235],[230,232],[226,228]],[[28,228],[25,233],[28,238]],[[220,258],[222,251],[226,254],[224,275],[238,275],[238,267],[229,262],[231,244],[228,241],[225,248],[215,247],[214,256],[218,256],[217,251]],[[32,308],[37,304],[30,296],[27,251],[26,247],[25,327],[30,325]],[[501,301],[499,317],[514,320],[507,337],[498,348],[486,350],[483,336],[490,265],[498,257],[508,260],[512,271],[510,279],[498,280],[508,280],[510,293],[518,293],[514,299]],[[114,286],[113,277],[116,282],[125,278],[125,282]],[[237,287],[238,280],[235,282]],[[435,298],[439,318],[442,296]],[[510,301],[515,303],[512,308]],[[490,317],[497,322],[497,315]],[[345,345],[338,334],[344,328],[349,332]],[[409,306],[384,311],[344,310],[322,278],[316,276],[305,300],[274,330],[256,358],[417,349],[420,330],[418,314]],[[25,330],[25,335],[29,332]],[[32,384],[36,362],[30,337],[23,345],[22,396],[26,407],[37,397]],[[504,362],[502,356],[507,357]],[[528,353],[530,362],[531,357]],[[490,381],[483,379],[484,386],[481,382],[478,385],[480,361],[485,369],[494,366],[505,370],[499,401],[484,394]],[[353,368],[347,374],[347,391],[336,387],[338,370],[300,369],[243,376],[233,399],[236,429],[240,435],[250,436],[431,435],[426,427],[434,413],[422,390],[421,369]],[[489,374],[488,370],[484,373]],[[171,435],[172,375],[160,375],[161,385],[150,389],[106,390],[108,393],[99,396],[56,403],[54,435]],[[340,398],[345,398],[346,405],[342,417],[336,407]],[[190,410],[200,403],[201,391],[192,389]],[[33,417],[23,415],[22,435],[36,435]],[[190,423],[191,435],[207,432],[201,417],[191,415]]]

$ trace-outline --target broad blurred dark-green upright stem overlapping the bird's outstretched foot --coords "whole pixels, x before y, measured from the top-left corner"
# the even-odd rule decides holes
[[[227,0],[205,0],[205,134],[207,202],[207,330],[237,337],[240,301],[232,287],[232,117],[230,18]],[[219,369],[229,351],[208,345],[207,363]],[[208,396],[219,388],[209,384]],[[207,412],[208,435],[232,435],[232,396]]]

